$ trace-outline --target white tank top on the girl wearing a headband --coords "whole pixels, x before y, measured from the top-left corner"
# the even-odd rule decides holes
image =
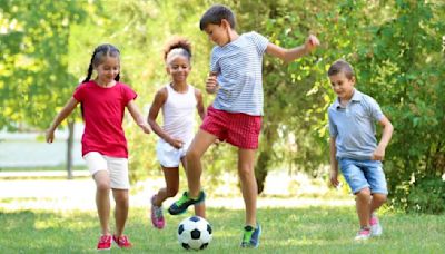
[[[195,110],[197,105],[195,88],[188,85],[185,94],[175,91],[170,85],[167,85],[166,88],[167,100],[162,106],[162,129],[171,137],[189,144],[195,134]]]

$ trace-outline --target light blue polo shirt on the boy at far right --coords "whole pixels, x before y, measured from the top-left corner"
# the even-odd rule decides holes
[[[329,133],[336,137],[337,158],[370,159],[377,147],[375,121],[384,118],[377,101],[354,89],[346,108],[338,98],[328,108]]]

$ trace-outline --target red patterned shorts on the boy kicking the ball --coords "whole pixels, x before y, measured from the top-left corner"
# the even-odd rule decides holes
[[[210,106],[200,128],[236,147],[257,149],[261,130],[261,116],[228,113]]]

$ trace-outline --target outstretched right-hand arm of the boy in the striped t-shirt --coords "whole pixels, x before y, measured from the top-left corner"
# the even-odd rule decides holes
[[[313,51],[317,46],[319,46],[319,41],[317,37],[310,35],[304,45],[298,46],[293,49],[285,49],[277,45],[270,43],[266,48],[266,52],[274,57],[278,57],[285,62],[294,61],[297,58],[300,58],[310,51]]]

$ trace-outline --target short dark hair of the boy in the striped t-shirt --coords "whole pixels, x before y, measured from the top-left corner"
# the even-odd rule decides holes
[[[222,4],[214,4],[202,14],[199,21],[199,29],[202,31],[210,23],[221,25],[222,19],[229,22],[230,28],[235,28],[235,14],[230,8]]]

